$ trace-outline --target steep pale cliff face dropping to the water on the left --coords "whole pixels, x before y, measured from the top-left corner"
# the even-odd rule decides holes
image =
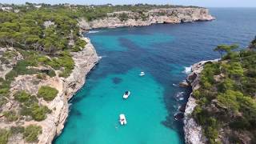
[[[56,135],[61,134],[69,114],[69,100],[86,82],[86,74],[98,63],[98,55],[89,38],[84,38],[87,42],[85,48],[79,52],[72,53],[75,67],[70,77],[60,78],[62,90],[58,97],[54,98],[51,106],[55,107],[54,113],[49,114],[41,123],[42,134],[38,143],[51,143]]]

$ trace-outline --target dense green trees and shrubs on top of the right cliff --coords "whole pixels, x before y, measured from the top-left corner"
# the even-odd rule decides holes
[[[256,52],[232,51],[236,48],[222,45],[215,49],[226,55],[219,62],[206,63],[201,87],[193,94],[198,103],[193,116],[209,143],[218,143],[215,140],[220,129],[230,137],[230,142],[239,143],[239,133],[244,131],[250,142],[256,140]]]

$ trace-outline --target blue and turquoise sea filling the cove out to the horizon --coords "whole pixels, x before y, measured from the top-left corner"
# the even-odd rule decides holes
[[[218,44],[248,46],[256,9],[213,8],[217,20],[91,31],[99,64],[70,101],[70,116],[56,144],[184,143],[178,107],[190,90],[178,87],[193,63],[218,58]],[[145,76],[138,74],[144,71]],[[130,90],[126,100],[122,94]],[[127,125],[118,123],[125,114]]]

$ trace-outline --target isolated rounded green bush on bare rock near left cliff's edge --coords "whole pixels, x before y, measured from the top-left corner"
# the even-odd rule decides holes
[[[38,90],[38,97],[46,101],[53,100],[58,94],[58,90],[50,86],[41,86]]]

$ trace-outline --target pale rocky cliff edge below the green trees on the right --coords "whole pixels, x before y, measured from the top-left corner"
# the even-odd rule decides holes
[[[198,62],[192,66],[192,72],[188,75],[186,80],[190,83],[193,91],[198,90],[198,88],[200,87],[200,73],[202,72],[203,66],[206,64],[206,62],[218,62],[218,59]],[[192,117],[194,108],[195,106],[197,106],[196,99],[193,97],[193,91],[190,94],[190,98],[188,99],[188,102],[186,104],[186,110],[184,113],[185,142],[188,144],[202,144],[206,143],[206,138],[203,136],[202,133],[202,127],[199,126]]]

